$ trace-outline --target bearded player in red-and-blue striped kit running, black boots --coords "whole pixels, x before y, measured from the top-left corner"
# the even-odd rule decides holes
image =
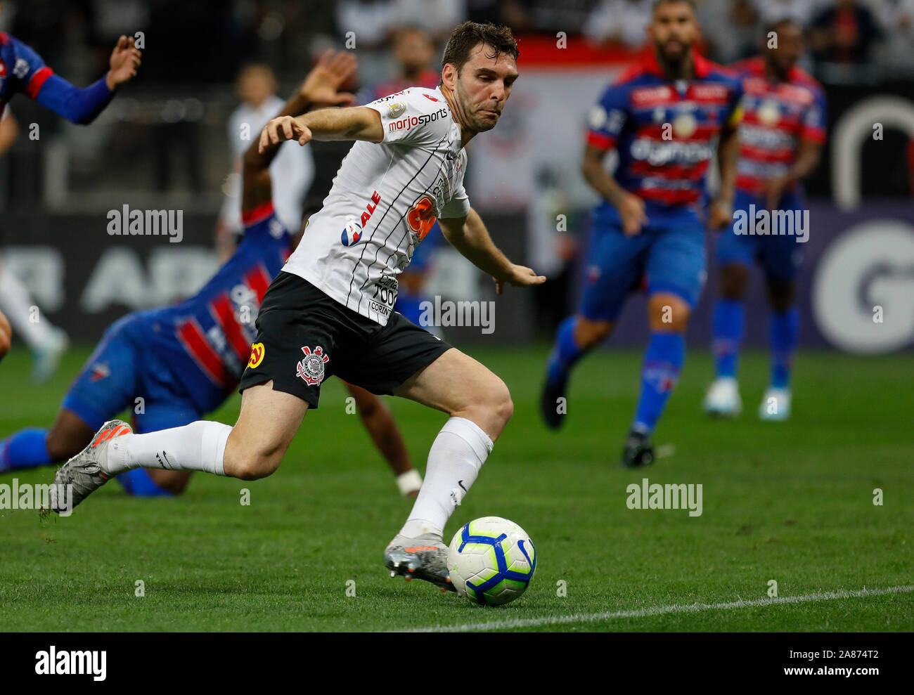
[[[622,465],[654,459],[651,434],[685,359],[685,326],[705,279],[705,178],[719,137],[720,195],[707,225],[729,222],[736,173],[739,81],[693,52],[695,7],[657,0],[648,26],[653,54],[606,90],[591,111],[582,171],[603,202],[593,213],[579,311],[561,323],[547,365],[540,411],[564,420],[571,368],[612,332],[632,290],[645,286],[651,337],[641,396]],[[615,150],[615,174],[603,168]]]

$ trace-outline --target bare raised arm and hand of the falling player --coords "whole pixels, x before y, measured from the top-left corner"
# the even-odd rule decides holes
[[[303,113],[328,104],[351,103],[352,94],[338,91],[356,71],[356,58],[346,51],[327,51],[308,73],[302,86],[286,101],[282,111],[273,121],[291,118],[293,113]],[[326,111],[339,111],[328,109]],[[273,122],[271,121],[271,122]],[[246,213],[272,199],[270,164],[279,152],[279,143],[262,146],[252,142],[244,153],[242,172],[241,212]]]

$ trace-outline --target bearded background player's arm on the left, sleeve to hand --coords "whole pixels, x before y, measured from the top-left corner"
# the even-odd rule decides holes
[[[590,187],[619,211],[622,231],[631,237],[638,234],[647,222],[644,201],[638,195],[622,188],[603,167],[606,153],[615,149],[616,141],[628,119],[625,110],[626,95],[624,88],[613,85],[603,93],[600,102],[590,111],[587,144],[584,147],[584,159],[580,169]]]

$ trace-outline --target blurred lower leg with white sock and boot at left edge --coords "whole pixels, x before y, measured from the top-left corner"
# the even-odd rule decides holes
[[[57,370],[60,356],[67,350],[67,334],[52,325],[38,310],[28,290],[9,270],[0,266],[0,309],[16,326],[16,334],[31,349],[34,363],[32,378],[45,382]]]

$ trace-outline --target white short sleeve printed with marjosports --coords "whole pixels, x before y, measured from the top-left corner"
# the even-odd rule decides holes
[[[382,144],[433,146],[451,130],[451,110],[435,90],[411,88],[366,104],[381,116]]]

